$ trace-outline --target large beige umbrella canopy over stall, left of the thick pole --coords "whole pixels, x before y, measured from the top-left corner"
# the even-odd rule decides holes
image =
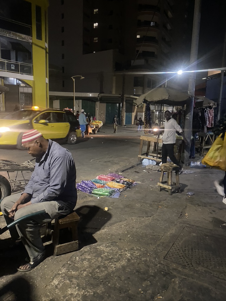
[[[152,104],[166,104],[169,106],[186,104],[190,100],[190,95],[184,92],[177,91],[172,88],[154,88],[151,91],[140,95],[134,103],[140,105],[144,102]]]

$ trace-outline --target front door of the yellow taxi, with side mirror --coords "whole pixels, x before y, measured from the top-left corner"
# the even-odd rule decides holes
[[[33,128],[42,133],[46,139],[53,138],[54,124],[52,123],[52,116],[50,111],[40,113],[32,120]],[[39,123],[40,120],[46,120],[45,123]]]

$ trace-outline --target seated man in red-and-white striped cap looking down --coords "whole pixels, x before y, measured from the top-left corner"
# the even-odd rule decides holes
[[[44,260],[44,246],[40,236],[41,225],[61,215],[71,213],[77,202],[76,169],[71,153],[52,140],[46,140],[37,130],[22,136],[22,144],[36,158],[30,181],[21,194],[12,194],[1,202],[1,211],[7,224],[40,210],[46,213],[24,219],[10,228],[12,240],[20,236],[30,262],[17,270],[27,272]],[[19,235],[18,235],[19,234]]]

